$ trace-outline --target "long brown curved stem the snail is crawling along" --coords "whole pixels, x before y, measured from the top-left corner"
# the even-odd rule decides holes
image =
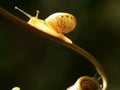
[[[78,54],[82,55],[83,57],[85,57],[87,60],[89,60],[93,64],[93,66],[96,68],[98,73],[101,75],[102,80],[103,80],[103,89],[102,90],[107,90],[107,79],[106,79],[106,75],[104,73],[104,70],[102,69],[99,62],[86,50],[82,49],[81,47],[77,46],[74,43],[72,43],[72,44],[66,43],[65,41],[63,41],[59,38],[48,35],[42,31],[32,27],[31,25],[27,24],[23,20],[17,18],[16,16],[12,15],[11,13],[7,12],[6,10],[4,10],[1,7],[0,7],[0,15],[2,17],[6,18],[7,20],[12,21],[13,23],[25,28],[26,30],[31,30],[33,32],[38,33],[39,35],[41,34],[41,35],[47,37],[48,39],[51,39],[51,40],[53,40],[61,45],[64,45],[67,48],[70,48],[71,50],[73,50],[73,51],[77,52]]]

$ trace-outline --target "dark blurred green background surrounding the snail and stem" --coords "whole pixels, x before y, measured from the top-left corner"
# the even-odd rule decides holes
[[[78,24],[67,36],[98,59],[109,90],[120,90],[120,0],[0,0],[0,6],[25,21],[14,6],[31,15],[40,10],[41,19],[73,14]],[[96,73],[77,53],[0,17],[0,90],[65,90],[80,76]]]

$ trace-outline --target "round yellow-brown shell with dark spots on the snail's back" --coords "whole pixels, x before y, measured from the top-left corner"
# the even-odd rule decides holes
[[[69,13],[54,13],[45,19],[56,32],[65,34],[71,32],[77,24],[76,18]]]

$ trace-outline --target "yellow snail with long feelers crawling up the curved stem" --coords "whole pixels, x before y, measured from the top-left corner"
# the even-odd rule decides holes
[[[57,12],[48,16],[48,18],[46,18],[45,20],[42,20],[38,19],[38,10],[36,11],[35,17],[33,17],[18,7],[15,7],[15,9],[19,10],[30,18],[28,24],[43,31],[44,33],[47,33],[69,44],[72,44],[72,41],[64,35],[74,30],[77,25],[77,20],[72,14]]]

